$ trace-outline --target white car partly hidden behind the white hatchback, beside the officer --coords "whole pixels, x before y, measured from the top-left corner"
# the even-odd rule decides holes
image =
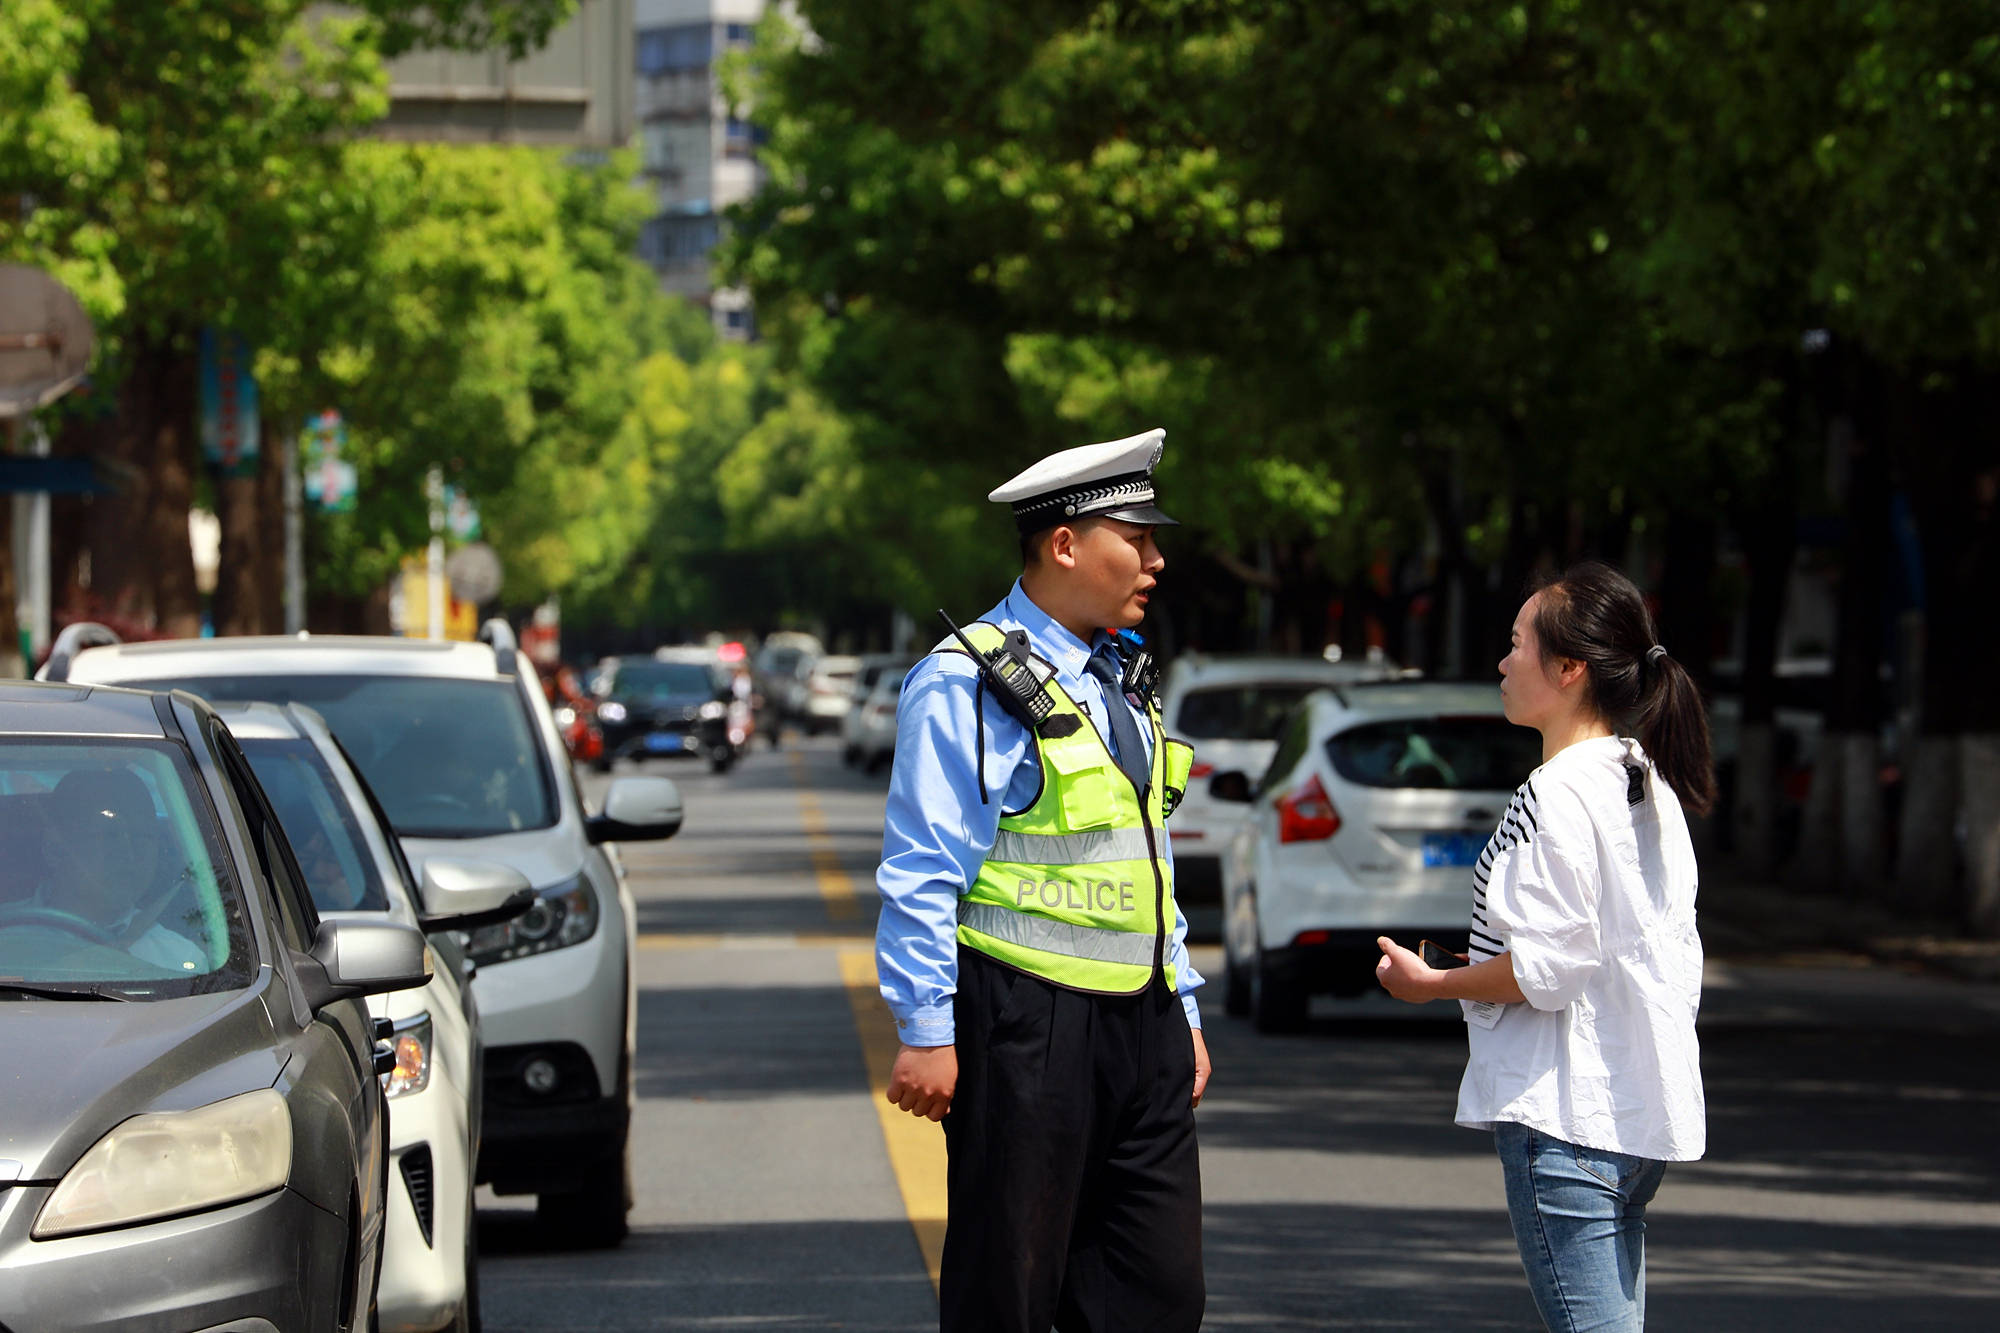
[[[1402,673],[1378,658],[1212,656],[1184,652],[1160,687],[1166,735],[1194,747],[1188,793],[1174,809],[1174,901],[1196,937],[1214,939],[1222,905],[1222,849],[1244,823],[1244,807],[1214,801],[1206,779],[1240,769],[1258,775],[1278,749],[1278,729],[1312,691]]]

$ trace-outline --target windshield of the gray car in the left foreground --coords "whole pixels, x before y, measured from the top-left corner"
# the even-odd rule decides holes
[[[178,747],[0,743],[0,999],[250,985],[228,857]]]

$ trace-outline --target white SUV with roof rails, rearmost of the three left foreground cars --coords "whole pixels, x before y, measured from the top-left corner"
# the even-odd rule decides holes
[[[70,626],[42,671],[178,687],[214,703],[310,705],[412,863],[476,857],[526,875],[534,907],[466,945],[486,1029],[478,1181],[536,1195],[550,1233],[570,1245],[624,1239],[636,909],[604,843],[672,837],[682,821],[674,783],[616,779],[590,815],[504,620],[490,620],[480,642],[302,634],[120,644],[102,626]]]

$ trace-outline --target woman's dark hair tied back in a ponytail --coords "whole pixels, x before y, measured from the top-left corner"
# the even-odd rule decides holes
[[[1630,578],[1598,560],[1574,564],[1540,588],[1534,636],[1542,660],[1584,664],[1590,707],[1612,727],[1636,723],[1640,745],[1680,805],[1706,815],[1716,803],[1708,711],[1688,669],[1666,654]]]

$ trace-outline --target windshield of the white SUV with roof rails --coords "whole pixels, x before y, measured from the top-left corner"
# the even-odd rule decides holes
[[[480,839],[556,823],[554,779],[508,681],[192,677],[148,681],[212,703],[312,705],[408,839]]]

